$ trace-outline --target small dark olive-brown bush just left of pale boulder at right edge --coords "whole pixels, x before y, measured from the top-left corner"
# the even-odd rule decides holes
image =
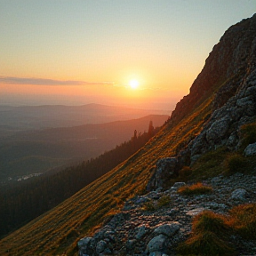
[[[245,172],[247,168],[247,162],[245,157],[239,154],[229,156],[226,165],[227,173],[229,174],[236,172]]]

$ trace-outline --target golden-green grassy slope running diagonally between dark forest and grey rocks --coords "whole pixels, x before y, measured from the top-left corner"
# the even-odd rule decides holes
[[[0,255],[76,255],[76,242],[80,238],[118,212],[125,199],[143,193],[149,170],[159,158],[174,156],[180,143],[200,132],[205,116],[211,111],[211,100],[205,100],[194,111],[189,109],[188,116],[179,124],[166,125],[130,159],[75,196],[6,236],[0,241]]]

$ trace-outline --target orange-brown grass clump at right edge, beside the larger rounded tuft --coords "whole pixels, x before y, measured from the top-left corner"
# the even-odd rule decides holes
[[[241,236],[256,239],[256,204],[242,204],[230,210],[229,225]]]

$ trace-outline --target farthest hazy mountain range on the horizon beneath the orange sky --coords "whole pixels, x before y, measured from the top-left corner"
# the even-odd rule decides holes
[[[0,105],[0,137],[20,130],[71,127],[82,124],[104,124],[131,120],[148,115],[170,115],[171,111],[119,108],[100,104],[83,106],[21,106]]]

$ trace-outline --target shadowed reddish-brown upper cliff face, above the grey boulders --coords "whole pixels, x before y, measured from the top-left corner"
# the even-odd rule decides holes
[[[247,76],[255,69],[255,36],[256,14],[228,28],[213,47],[190,93],[180,100],[172,112],[172,121],[186,116],[189,109],[195,108],[213,92],[216,95],[212,111],[220,108],[235,95],[238,88],[243,87]],[[252,77],[249,79],[252,80]]]

